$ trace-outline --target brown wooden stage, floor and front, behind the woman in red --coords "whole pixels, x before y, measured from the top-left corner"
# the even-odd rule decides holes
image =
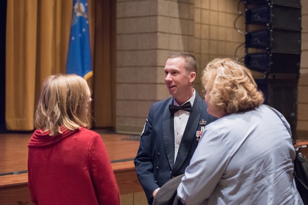
[[[105,144],[115,173],[120,194],[143,191],[135,172],[133,159],[137,154],[140,136],[98,132]],[[28,193],[27,144],[32,133],[0,134],[0,205],[31,204]],[[12,172],[25,172],[13,174]]]

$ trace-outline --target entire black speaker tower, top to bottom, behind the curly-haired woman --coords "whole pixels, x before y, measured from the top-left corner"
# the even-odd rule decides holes
[[[296,140],[297,85],[301,60],[300,0],[242,0],[245,4],[245,66],[264,73],[255,79],[265,104],[281,112]]]

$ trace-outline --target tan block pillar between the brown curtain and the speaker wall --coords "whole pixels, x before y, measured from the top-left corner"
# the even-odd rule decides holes
[[[170,97],[164,65],[193,53],[193,0],[117,0],[116,131],[142,132],[152,103]]]

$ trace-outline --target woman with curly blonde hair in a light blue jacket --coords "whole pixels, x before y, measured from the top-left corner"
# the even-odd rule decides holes
[[[293,179],[290,126],[261,105],[263,94],[249,70],[217,58],[202,83],[208,113],[219,119],[205,127],[185,170],[177,188],[181,202],[303,204]]]

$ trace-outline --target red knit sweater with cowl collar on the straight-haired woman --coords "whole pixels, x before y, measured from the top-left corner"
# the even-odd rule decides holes
[[[86,128],[49,136],[36,130],[28,147],[34,204],[120,204],[119,188],[98,133]]]

